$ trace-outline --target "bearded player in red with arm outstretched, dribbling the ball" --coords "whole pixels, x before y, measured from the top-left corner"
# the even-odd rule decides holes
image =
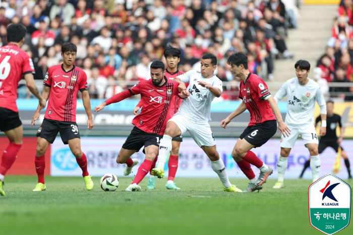
[[[161,61],[154,61],[150,66],[151,79],[140,81],[129,90],[120,92],[105,100],[94,108],[95,112],[102,110],[106,105],[120,102],[133,95],[141,94],[142,111],[138,114],[132,124],[135,125],[131,134],[125,141],[117,155],[116,162],[126,163],[124,175],[129,175],[132,168],[139,163],[137,158],[132,159],[131,155],[138,152],[142,146],[146,154],[144,162],[140,165],[136,177],[125,191],[140,191],[138,185],[150,171],[152,163],[158,156],[158,145],[168,121],[168,111],[173,97],[178,95],[187,97],[184,82],[167,79],[164,64]]]

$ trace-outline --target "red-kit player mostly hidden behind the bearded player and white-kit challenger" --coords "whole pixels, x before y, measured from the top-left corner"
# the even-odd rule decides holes
[[[179,75],[184,74],[183,71],[178,70],[178,63],[180,62],[180,56],[182,54],[182,51],[179,48],[175,48],[172,46],[168,46],[164,50],[164,57],[165,61],[167,63],[167,68],[165,69],[165,74],[164,76],[167,79],[173,79]],[[185,84],[188,86],[188,84]],[[169,120],[175,112],[178,111],[180,104],[182,103],[182,100],[179,96],[173,96],[169,111],[167,114],[167,120]],[[134,109],[134,114],[137,115],[138,110],[142,106],[142,100],[137,104],[137,106]],[[179,190],[177,186],[175,186],[174,178],[175,174],[177,173],[178,169],[178,163],[179,163],[179,148],[180,144],[183,142],[183,137],[174,137],[171,140],[171,151],[170,151],[170,156],[169,156],[169,161],[168,161],[168,168],[169,168],[169,173],[168,173],[168,181],[165,185],[166,189],[174,189],[174,190]],[[156,157],[157,158],[157,157]],[[156,160],[152,164],[153,169],[155,167]],[[156,178],[153,174],[150,174],[150,177],[148,179],[148,184],[147,184],[147,189],[154,189],[154,184],[155,184]]]

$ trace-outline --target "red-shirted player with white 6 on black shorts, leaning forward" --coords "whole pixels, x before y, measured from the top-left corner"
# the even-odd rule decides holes
[[[243,52],[231,54],[227,64],[231,66],[230,70],[233,75],[242,80],[240,82],[239,98],[243,101],[236,110],[221,122],[221,127],[225,129],[233,118],[243,113],[246,109],[249,110],[249,126],[240,135],[231,152],[231,156],[250,180],[247,190],[243,192],[251,193],[262,189],[262,185],[266,183],[273,170],[250,150],[262,146],[276,133],[276,119],[279,134],[282,133],[283,136],[289,136],[290,130],[283,122],[278,106],[271,96],[266,83],[257,75],[249,72],[247,56]],[[251,169],[250,164],[260,169],[258,178]]]

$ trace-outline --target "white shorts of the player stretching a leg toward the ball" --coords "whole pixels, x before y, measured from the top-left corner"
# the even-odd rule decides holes
[[[216,140],[213,137],[211,126],[206,123],[196,123],[190,121],[185,116],[175,113],[168,122],[177,124],[179,129],[182,131],[182,136],[188,131],[194,141],[201,146],[214,146]]]

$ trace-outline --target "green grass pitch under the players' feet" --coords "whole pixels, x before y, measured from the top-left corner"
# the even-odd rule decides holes
[[[164,188],[124,192],[132,178],[104,192],[100,178],[87,191],[82,178],[46,177],[47,190],[32,192],[36,177],[6,177],[0,197],[0,234],[323,234],[310,225],[309,180],[285,180],[260,193],[223,192],[219,179],[177,178],[179,191]],[[245,190],[248,180],[231,179]],[[346,181],[353,186],[353,181]],[[338,234],[353,234],[348,225]]]

